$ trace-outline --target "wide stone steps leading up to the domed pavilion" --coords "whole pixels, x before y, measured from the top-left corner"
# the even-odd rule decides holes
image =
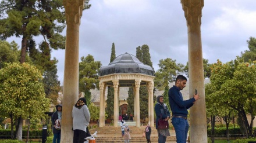
[[[135,127],[129,126],[131,140],[130,142],[147,142],[145,137],[142,137],[143,131],[146,126]],[[124,142],[124,139],[121,135],[120,127],[105,126],[105,127],[96,127],[95,129],[89,129],[90,133],[93,134],[97,131],[97,137],[95,140],[99,142]],[[151,131],[151,142],[158,141],[158,134],[155,127],[152,127]],[[175,142],[176,137],[174,131],[170,130],[170,136],[166,138],[166,142]]]

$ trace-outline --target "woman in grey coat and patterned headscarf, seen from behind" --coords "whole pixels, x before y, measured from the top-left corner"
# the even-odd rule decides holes
[[[88,132],[90,112],[87,107],[86,98],[79,98],[72,110],[74,137],[73,143],[83,143]]]

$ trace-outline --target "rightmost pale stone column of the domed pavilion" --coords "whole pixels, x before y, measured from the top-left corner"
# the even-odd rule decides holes
[[[150,105],[148,108],[150,108],[150,113],[148,115],[148,118],[150,119],[150,126],[154,127],[154,99],[153,99],[153,90],[154,90],[154,82],[148,82],[148,97],[150,98]]]

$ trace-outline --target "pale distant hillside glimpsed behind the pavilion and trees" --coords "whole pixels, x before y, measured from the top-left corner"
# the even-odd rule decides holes
[[[204,83],[205,84],[209,83],[209,79],[205,79]],[[169,87],[172,87],[173,85],[175,85],[175,82],[169,83]],[[120,87],[119,98],[126,99],[128,97],[128,90],[129,90],[129,87]],[[99,102],[99,90],[94,89],[94,90],[90,90],[90,91],[91,91],[91,101]],[[107,93],[108,93],[108,88],[106,88],[105,100],[106,100]],[[189,99],[189,80],[187,81],[186,87],[183,90],[181,90],[181,93],[183,95],[184,100]],[[163,91],[156,90],[154,93],[154,96],[159,96],[162,94],[163,94]]]

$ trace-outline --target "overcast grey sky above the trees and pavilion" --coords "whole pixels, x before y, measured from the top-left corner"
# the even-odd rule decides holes
[[[159,60],[165,58],[186,65],[187,25],[180,0],[90,3],[91,8],[81,17],[80,57],[91,54],[95,61],[108,65],[113,42],[116,56],[125,52],[136,56],[136,47],[146,44],[155,70],[159,69]],[[256,37],[255,0],[204,0],[201,21],[203,58],[209,63],[234,60],[248,50],[250,36]],[[63,85],[65,50],[53,51],[52,57],[59,60],[58,76]]]

